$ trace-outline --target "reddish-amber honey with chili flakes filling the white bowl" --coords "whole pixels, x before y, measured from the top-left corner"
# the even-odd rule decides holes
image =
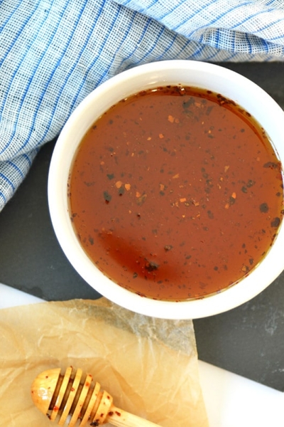
[[[222,95],[179,85],[105,112],[80,144],[69,192],[99,270],[159,300],[238,282],[283,218],[282,169],[263,129]]]

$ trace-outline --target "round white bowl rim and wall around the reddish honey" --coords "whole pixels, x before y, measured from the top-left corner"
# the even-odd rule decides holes
[[[261,124],[284,164],[284,112],[261,88],[226,68],[190,60],[141,65],[100,85],[70,116],[55,145],[48,180],[50,216],[60,246],[75,270],[101,295],[126,309],[168,319],[195,319],[230,310],[258,295],[284,270],[284,228],[280,226],[271,250],[236,285],[203,299],[182,302],[151,300],[121,288],[103,275],[80,246],[70,221],[67,181],[70,165],[85,132],[102,113],[133,93],[160,85],[206,88],[234,100]]]

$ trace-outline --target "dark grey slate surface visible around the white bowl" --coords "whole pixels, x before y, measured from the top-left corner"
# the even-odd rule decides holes
[[[284,109],[284,63],[224,66],[260,85]],[[54,144],[41,149],[0,214],[0,282],[45,300],[96,299],[65,258],[50,223],[47,180]],[[194,324],[201,360],[284,391],[284,273],[241,307]]]

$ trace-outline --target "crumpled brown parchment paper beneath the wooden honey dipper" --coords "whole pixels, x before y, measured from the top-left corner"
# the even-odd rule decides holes
[[[31,383],[70,365],[119,408],[163,427],[208,426],[190,320],[137,315],[104,298],[43,302],[0,310],[0,338],[0,426],[56,425],[33,406]]]

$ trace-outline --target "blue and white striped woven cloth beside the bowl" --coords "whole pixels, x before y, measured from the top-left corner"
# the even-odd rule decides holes
[[[284,60],[284,0],[0,0],[0,211],[86,95],[154,60]]]

